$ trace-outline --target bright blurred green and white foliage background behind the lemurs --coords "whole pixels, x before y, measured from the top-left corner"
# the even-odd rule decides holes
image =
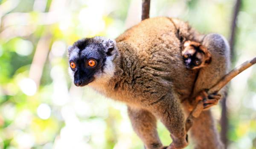
[[[233,68],[256,56],[255,6],[151,0],[150,16],[231,39]],[[140,17],[141,0],[0,0],[0,149],[143,149],[124,104],[73,85],[66,50],[83,37],[115,38]],[[222,139],[228,149],[256,149],[256,66],[231,81],[228,95],[212,107]],[[171,143],[161,123],[158,131]]]

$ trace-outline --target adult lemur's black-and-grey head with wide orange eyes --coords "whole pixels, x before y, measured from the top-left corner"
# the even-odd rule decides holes
[[[84,38],[68,48],[69,72],[76,86],[85,86],[97,79],[109,79],[114,73],[115,40],[105,37]]]

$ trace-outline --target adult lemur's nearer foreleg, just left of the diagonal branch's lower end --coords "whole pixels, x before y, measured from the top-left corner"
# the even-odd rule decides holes
[[[183,149],[188,145],[185,116],[177,96],[171,93],[163,95],[151,104],[151,111],[171,133],[172,143],[166,149]]]

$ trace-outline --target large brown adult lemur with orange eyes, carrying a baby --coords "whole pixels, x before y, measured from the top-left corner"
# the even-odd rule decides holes
[[[202,43],[212,55],[201,69],[186,69],[181,55],[184,41]],[[143,20],[116,40],[85,38],[70,46],[70,72],[76,86],[96,91],[128,106],[128,115],[146,149],[181,149],[188,145],[185,101],[208,89],[226,74],[230,63],[227,41],[219,34],[199,34],[187,23],[168,17]],[[222,92],[221,92],[222,94]],[[205,103],[208,107],[211,100]],[[163,146],[157,135],[157,118],[173,142]],[[191,129],[197,149],[222,148],[209,110]]]

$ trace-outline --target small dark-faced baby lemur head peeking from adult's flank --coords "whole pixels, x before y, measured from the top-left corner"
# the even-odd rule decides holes
[[[207,66],[212,60],[207,48],[194,41],[186,41],[184,43],[182,56],[188,69],[199,69]]]

